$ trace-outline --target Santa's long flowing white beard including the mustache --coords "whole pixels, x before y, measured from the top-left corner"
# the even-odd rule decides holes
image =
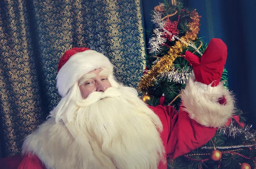
[[[104,169],[157,169],[160,160],[165,163],[162,123],[134,89],[111,87],[87,99],[78,86],[72,90],[50,116],[65,123],[79,147],[89,142]]]

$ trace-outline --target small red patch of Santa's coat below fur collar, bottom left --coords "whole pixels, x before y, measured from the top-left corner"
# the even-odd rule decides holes
[[[46,169],[46,167],[36,155],[26,154],[18,169]]]

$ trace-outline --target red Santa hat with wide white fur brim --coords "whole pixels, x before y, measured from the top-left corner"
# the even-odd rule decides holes
[[[88,48],[67,50],[58,63],[57,89],[61,97],[88,72],[105,68],[113,72],[113,65],[108,57]]]

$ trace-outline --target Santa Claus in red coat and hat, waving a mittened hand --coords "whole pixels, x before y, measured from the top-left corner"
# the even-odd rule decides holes
[[[227,47],[212,39],[201,58],[186,52],[195,77],[172,106],[147,106],[116,82],[107,57],[87,48],[64,53],[57,88],[62,99],[48,120],[26,137],[18,169],[166,169],[209,141],[233,113],[219,83]]]

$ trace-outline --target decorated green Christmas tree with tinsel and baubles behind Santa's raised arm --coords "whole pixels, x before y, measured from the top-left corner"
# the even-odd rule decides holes
[[[200,17],[195,9],[185,8],[182,1],[176,0],[166,0],[152,11],[154,29],[138,86],[145,103],[179,109],[180,92],[193,75],[184,54],[190,51],[201,57],[207,48],[207,43],[198,37]],[[221,81],[229,90],[226,69]],[[245,123],[241,110],[236,109],[233,118],[208,143],[189,154],[168,159],[168,168],[256,169],[256,132],[251,127]]]

